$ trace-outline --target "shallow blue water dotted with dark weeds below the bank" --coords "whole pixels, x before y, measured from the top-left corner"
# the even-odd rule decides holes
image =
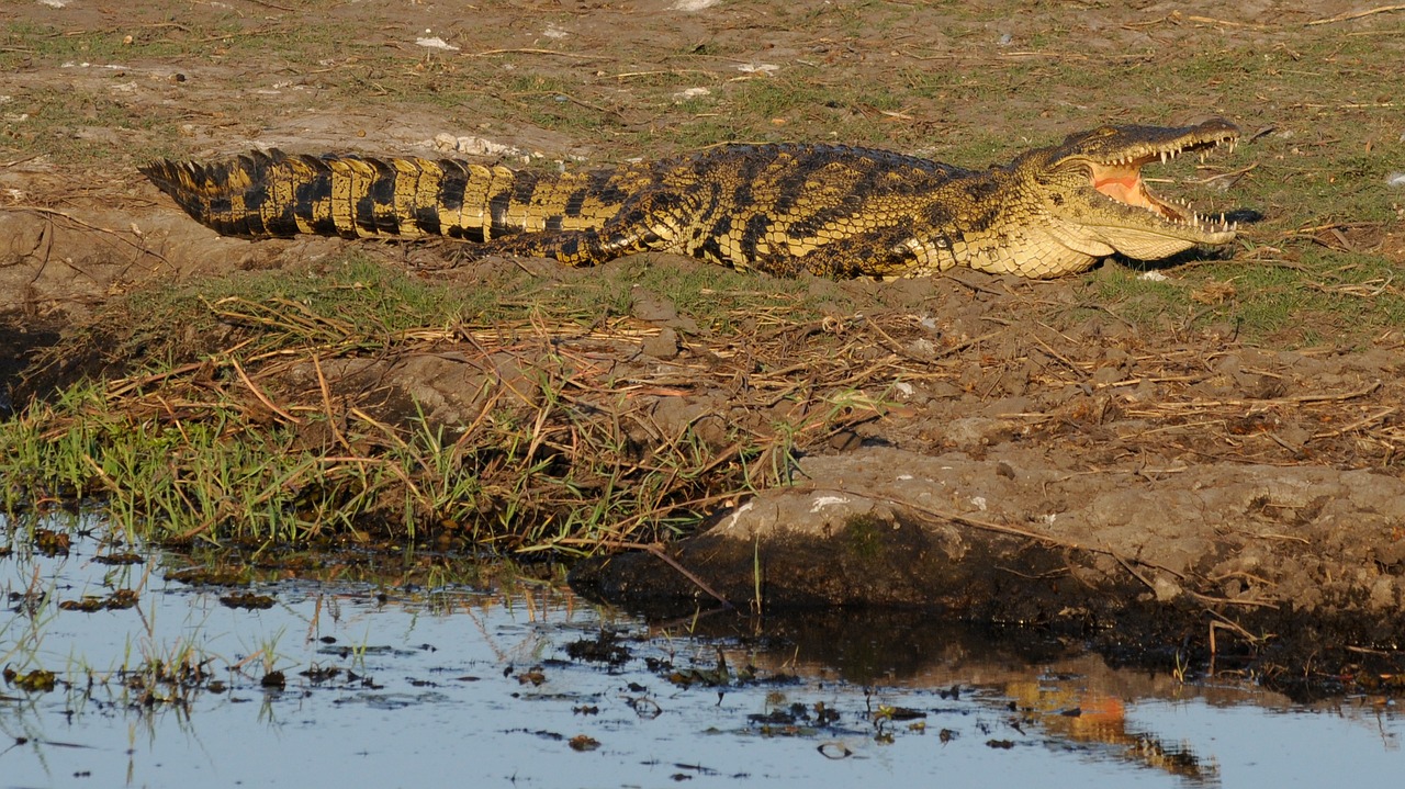
[[[3,786],[1322,786],[1405,768],[1390,699],[1293,705],[922,619],[649,625],[556,581],[385,580],[406,573],[267,580],[249,591],[273,608],[247,611],[164,580],[178,556],[10,545],[0,663],[58,685],[0,688]],[[133,608],[60,608],[122,588]],[[208,675],[133,681],[184,657]]]

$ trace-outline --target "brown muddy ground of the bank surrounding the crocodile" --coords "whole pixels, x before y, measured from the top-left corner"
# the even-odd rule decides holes
[[[1019,4],[1028,8],[1021,13],[1014,4],[669,0],[334,3],[325,11],[239,0],[131,6],[72,0],[4,11],[17,65],[0,87],[0,375],[11,383],[32,348],[101,319],[119,293],[237,270],[296,272],[350,246],[216,237],[139,177],[135,166],[153,154],[207,157],[251,145],[473,154],[486,140],[510,153],[482,159],[607,163],[670,153],[701,125],[698,135],[712,136],[702,145],[724,133],[833,139],[853,129],[864,139],[844,142],[948,160],[953,149],[974,146],[965,156],[1000,160],[1103,121],[1227,115],[1253,138],[1235,166],[1272,171],[1284,156],[1312,154],[1304,140],[1331,145],[1325,122],[1368,125],[1366,150],[1397,159],[1402,146],[1390,135],[1405,132],[1391,104],[1398,97],[1332,95],[1321,84],[1293,95],[1297,83],[1267,81],[1257,93],[1228,90],[1222,74],[1176,70],[1184,53],[1218,52],[1228,53],[1221,67],[1264,53],[1287,58],[1291,73],[1297,58],[1284,52],[1298,55],[1302,37],[1321,44],[1326,31],[1398,51],[1398,17],[1346,18],[1350,3]],[[216,22],[219,32],[202,39]],[[327,51],[318,59],[240,49],[244,37],[270,35],[289,52]],[[149,46],[124,51],[135,46],[122,44],[126,37]],[[91,59],[81,48],[52,53],[65,38],[107,49]],[[171,42],[174,52],[153,42]],[[1322,69],[1331,56],[1298,69]],[[1055,76],[1086,63],[1090,79],[1051,81],[1038,63],[1058,63]],[[1130,63],[1162,65],[1168,84],[1118,81]],[[726,125],[740,112],[729,104],[740,105],[738,91],[815,65],[826,69],[819,94],[863,95],[864,86],[877,94],[915,73],[953,76],[948,90],[899,95],[895,108],[799,105],[776,110],[769,128]],[[535,93],[554,115],[523,110],[531,84],[507,90],[483,77],[513,72],[541,83]],[[645,90],[636,80],[648,77],[636,74],[673,81]],[[497,101],[488,104],[499,115],[475,110],[475,90]],[[466,93],[440,104],[424,98],[436,91]],[[715,102],[690,104],[700,95]],[[1321,110],[1324,101],[1336,115]],[[572,115],[594,125],[575,126]],[[1328,163],[1312,188],[1380,180],[1373,167],[1375,160]],[[1263,175],[1270,178],[1281,192],[1260,190],[1264,205],[1241,205],[1232,190],[1201,195],[1215,209],[1264,218],[1228,253],[1234,260],[1293,270],[1298,250],[1328,247],[1405,263],[1398,206],[1363,218],[1332,205],[1304,213],[1301,201],[1277,197],[1304,181],[1277,171]],[[451,254],[365,248],[385,265]],[[691,576],[642,553],[613,559],[603,576],[593,567],[590,583],[617,599],[746,605],[760,588],[764,543],[763,598],[771,605],[937,602],[969,618],[1103,633],[1137,614],[1142,625],[1127,633],[1184,637],[1200,651],[1217,635],[1221,651],[1227,643],[1291,642],[1297,658],[1281,664],[1302,672],[1397,660],[1405,633],[1405,340],[1388,323],[1364,337],[1356,331],[1353,323],[1375,324],[1370,305],[1366,319],[1304,313],[1246,337],[1241,323],[1249,319],[1235,313],[1235,288],[1245,285],[1196,278],[1214,257],[1161,270],[1194,293],[1190,309],[1152,319],[1132,314],[1141,296],[1107,298],[1135,279],[1130,261],[1058,282],[969,271],[896,284],[809,281],[818,299],[842,296],[860,309],[781,340],[830,343],[885,371],[882,386],[871,373],[864,383],[888,407],[809,446],[792,469],[794,490],[722,510],[717,531],[674,546],[674,563]],[[523,265],[568,285],[592,275]],[[653,256],[648,265],[688,272],[698,264]],[[466,267],[436,277],[471,288],[481,274]],[[1377,285],[1377,293],[1394,288],[1392,279]],[[1363,286],[1363,303],[1377,285]],[[620,375],[667,379],[667,393],[631,403],[659,435],[691,425],[719,439],[707,431],[733,418],[729,403],[746,375],[736,348],[746,338],[718,337],[701,310],[679,314],[663,302],[642,295],[636,336],[589,343],[592,358]],[[452,351],[445,341],[341,373],[391,380],[454,421],[475,371],[445,361]],[[1336,649],[1329,665],[1312,665],[1311,642],[1322,637]]]

